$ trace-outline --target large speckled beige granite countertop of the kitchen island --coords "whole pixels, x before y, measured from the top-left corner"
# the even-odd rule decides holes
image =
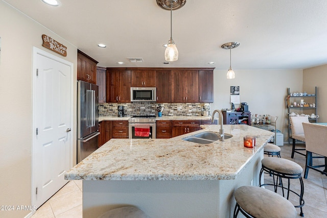
[[[66,180],[231,180],[261,152],[274,133],[247,125],[224,125],[225,141],[198,144],[182,140],[220,125],[169,139],[111,139],[65,174]],[[245,135],[256,136],[253,149]]]

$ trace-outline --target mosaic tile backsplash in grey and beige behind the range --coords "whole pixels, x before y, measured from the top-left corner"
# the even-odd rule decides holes
[[[204,103],[165,103],[162,116],[201,116]],[[158,103],[134,102],[134,103],[105,103],[99,104],[100,116],[117,116],[118,106],[124,106],[126,116],[131,115],[158,115],[156,111]]]

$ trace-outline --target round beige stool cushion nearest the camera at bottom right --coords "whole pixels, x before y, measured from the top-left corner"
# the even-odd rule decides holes
[[[257,218],[297,217],[291,202],[265,188],[241,186],[235,191],[235,200],[243,210]]]

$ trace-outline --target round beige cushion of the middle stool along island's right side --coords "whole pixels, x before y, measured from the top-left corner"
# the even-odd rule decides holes
[[[297,163],[278,157],[265,157],[261,160],[261,164],[273,171],[284,174],[301,174],[303,169]]]

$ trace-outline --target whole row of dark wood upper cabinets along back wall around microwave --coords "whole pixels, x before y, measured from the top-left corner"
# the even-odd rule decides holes
[[[213,103],[214,68],[107,67],[106,100],[129,103],[130,87],[156,87],[157,103]]]

